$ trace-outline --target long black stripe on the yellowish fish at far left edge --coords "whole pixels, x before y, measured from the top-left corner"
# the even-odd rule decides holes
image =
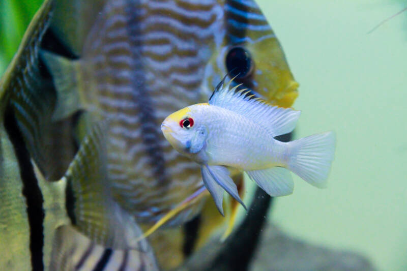
[[[44,209],[42,193],[35,177],[28,150],[18,129],[16,118],[10,107],[6,109],[4,126],[16,153],[22,180],[22,195],[25,197],[30,226],[30,251],[33,271],[44,270]]]

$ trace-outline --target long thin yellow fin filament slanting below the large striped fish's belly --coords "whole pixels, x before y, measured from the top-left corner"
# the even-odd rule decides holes
[[[174,218],[176,215],[180,214],[183,210],[185,210],[189,206],[195,204],[201,198],[208,196],[208,191],[205,189],[205,187],[202,187],[202,188],[203,189],[198,189],[193,195],[191,195],[186,200],[181,202],[177,207],[170,210],[165,216],[163,216],[160,220],[158,220],[151,228],[149,228],[146,232],[144,232],[143,235],[138,238],[138,240],[147,238],[152,233],[154,233],[158,228],[160,228],[162,225],[167,223],[169,220]]]

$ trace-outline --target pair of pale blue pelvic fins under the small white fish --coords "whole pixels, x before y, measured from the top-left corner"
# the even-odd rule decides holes
[[[207,187],[207,189],[209,190],[211,195],[213,195],[213,194],[212,194],[210,188],[215,190],[214,194],[216,194],[216,196],[217,196],[217,198],[214,197],[215,203],[219,209],[219,212],[222,214],[222,216],[224,215],[223,208],[222,208],[222,198],[223,198],[222,188],[230,196],[232,196],[240,204],[242,204],[242,206],[246,209],[246,205],[243,203],[242,199],[240,198],[236,184],[233,182],[232,178],[229,176],[229,171],[227,170],[226,167],[203,165],[201,167],[201,170],[202,170],[203,184],[205,184],[205,186]],[[218,191],[219,187],[221,187],[220,192]]]

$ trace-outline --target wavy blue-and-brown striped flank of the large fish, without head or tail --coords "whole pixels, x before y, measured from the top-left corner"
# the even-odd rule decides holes
[[[94,79],[88,108],[110,119],[109,176],[138,221],[157,220],[200,185],[198,168],[163,140],[159,124],[200,99],[210,55],[198,48],[214,39],[215,4],[109,1],[84,48],[82,68]]]

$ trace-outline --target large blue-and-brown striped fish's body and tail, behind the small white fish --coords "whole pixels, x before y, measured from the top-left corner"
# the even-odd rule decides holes
[[[253,50],[243,83],[262,96],[272,93],[270,99],[284,97],[292,75],[251,0],[108,0],[78,61],[44,53],[57,96],[64,97],[57,104],[65,97],[78,101],[66,115],[86,109],[109,118],[113,193],[137,221],[156,222],[202,187],[198,166],[170,146],[160,124],[169,113],[208,99],[236,46]],[[191,206],[169,223],[182,223],[199,208]]]

